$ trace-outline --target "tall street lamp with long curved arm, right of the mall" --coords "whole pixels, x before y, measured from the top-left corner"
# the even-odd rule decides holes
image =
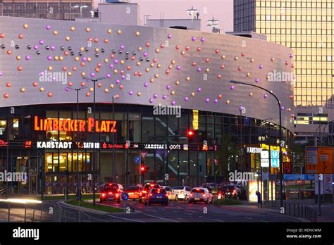
[[[279,114],[280,114],[280,207],[282,208],[283,207],[283,163],[282,163],[282,160],[283,160],[283,156],[282,156],[282,109],[280,108],[280,101],[279,99],[277,98],[277,96],[275,94],[273,94],[273,92],[270,92],[269,90],[267,89],[264,89],[263,87],[259,87],[257,85],[254,85],[254,84],[248,84],[248,83],[245,83],[245,82],[239,82],[239,81],[233,81],[233,80],[230,80],[230,83],[233,83],[233,84],[243,84],[243,85],[246,85],[246,86],[250,86],[250,87],[256,87],[258,89],[262,89],[266,92],[268,92],[269,94],[271,94],[277,101],[278,103],[278,110],[279,110]]]

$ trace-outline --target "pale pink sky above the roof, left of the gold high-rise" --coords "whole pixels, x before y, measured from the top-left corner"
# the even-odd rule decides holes
[[[219,27],[225,32],[233,31],[233,0],[130,0],[140,5],[140,18],[144,23],[144,15],[150,18],[190,18],[185,10],[194,6],[199,10],[202,19],[202,30],[211,32],[206,27],[206,20],[214,17],[219,20]]]

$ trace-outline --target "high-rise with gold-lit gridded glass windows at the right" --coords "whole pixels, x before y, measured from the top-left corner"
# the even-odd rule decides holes
[[[334,0],[234,1],[235,32],[265,34],[295,52],[295,132],[304,144],[316,144],[320,132],[333,144],[334,127],[325,127],[334,120],[333,7]]]

